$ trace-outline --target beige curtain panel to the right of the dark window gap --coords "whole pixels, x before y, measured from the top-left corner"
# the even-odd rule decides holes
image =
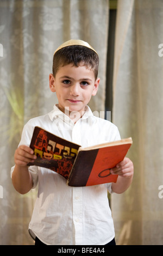
[[[161,0],[118,1],[113,117],[133,138],[135,167],[133,185],[112,196],[118,245],[163,243],[162,31]]]

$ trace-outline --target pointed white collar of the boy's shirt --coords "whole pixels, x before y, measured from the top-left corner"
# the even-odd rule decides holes
[[[53,121],[54,118],[59,117],[64,121],[70,121],[71,119],[62,111],[60,111],[60,109],[58,108],[58,104],[55,104],[53,107],[53,110],[51,112],[48,113],[49,118],[51,119],[51,121]],[[89,106],[86,106],[86,111],[84,113],[84,115],[82,116],[82,118],[80,119],[86,119],[89,117],[93,117],[93,113],[90,109]]]

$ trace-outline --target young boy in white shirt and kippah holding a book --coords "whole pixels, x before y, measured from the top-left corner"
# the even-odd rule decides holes
[[[88,147],[120,139],[117,127],[95,117],[87,103],[96,95],[99,78],[98,54],[87,42],[70,40],[54,53],[49,87],[58,97],[53,111],[33,118],[24,126],[15,151],[12,183],[24,194],[39,190],[29,232],[35,245],[115,245],[114,224],[107,192],[122,193],[133,179],[133,163],[125,158],[111,170],[116,183],[89,187],[70,187],[50,169],[30,166],[36,156],[29,148],[35,126]]]

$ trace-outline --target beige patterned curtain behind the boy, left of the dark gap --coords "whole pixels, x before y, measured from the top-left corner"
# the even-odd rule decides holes
[[[28,234],[36,190],[18,194],[10,168],[24,123],[51,111],[54,50],[69,39],[99,53],[101,85],[92,111],[104,111],[109,0],[0,0],[0,245],[33,245]]]

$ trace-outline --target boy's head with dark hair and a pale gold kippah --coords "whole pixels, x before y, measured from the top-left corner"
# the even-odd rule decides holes
[[[73,121],[82,117],[91,96],[97,93],[98,63],[96,51],[82,40],[67,41],[54,53],[49,87],[57,95],[59,109],[75,113],[75,118],[70,117]]]

